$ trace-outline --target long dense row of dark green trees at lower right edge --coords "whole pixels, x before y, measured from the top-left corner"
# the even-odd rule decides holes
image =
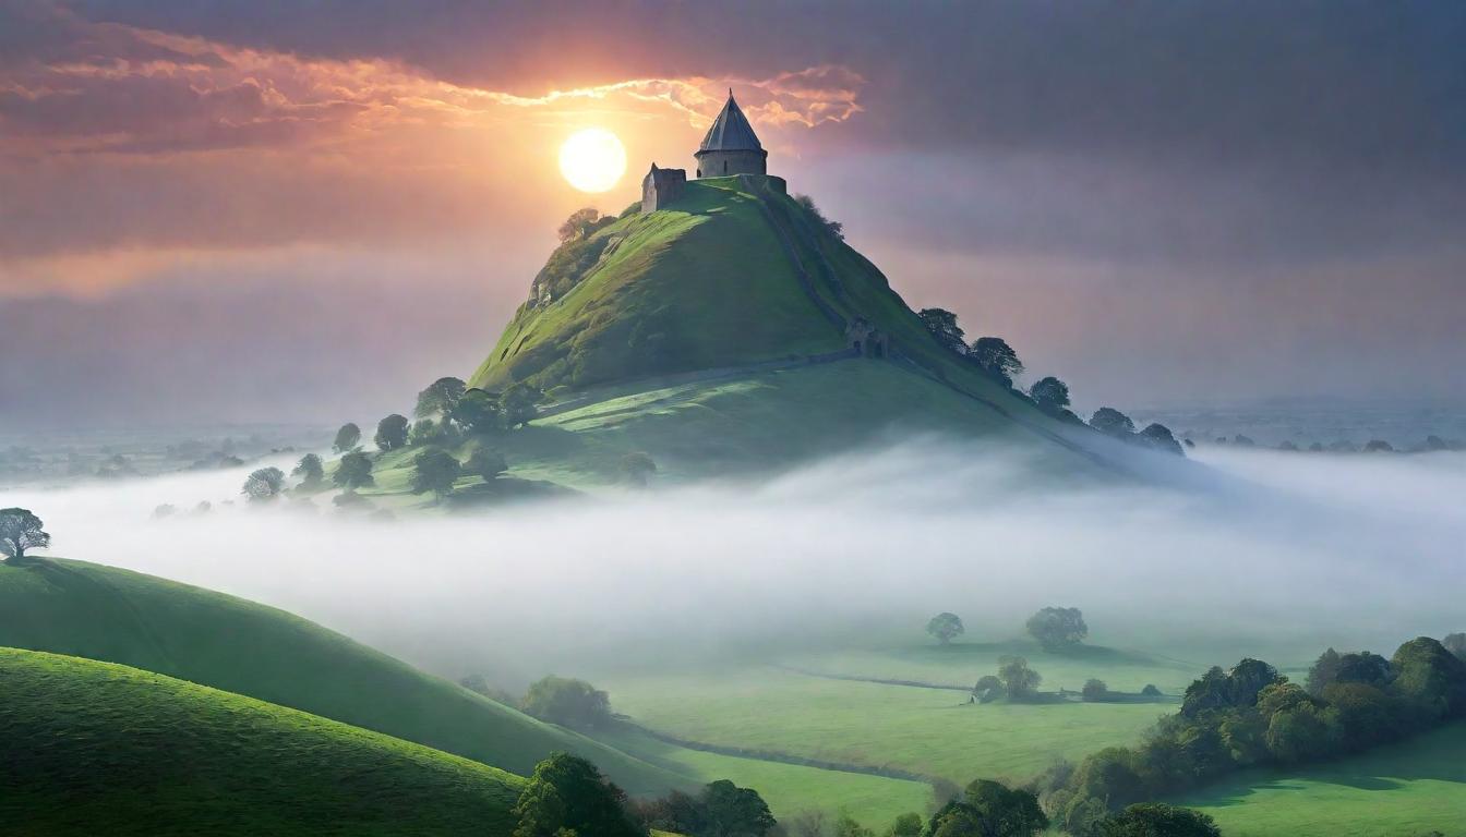
[[[1100,751],[1078,768],[1050,771],[1036,787],[1044,809],[1072,834],[1141,834],[1105,825],[1110,814],[1236,770],[1336,758],[1462,717],[1466,663],[1431,638],[1406,642],[1390,660],[1325,651],[1306,687],[1261,660],[1242,660],[1193,682],[1180,711],[1143,745]]]

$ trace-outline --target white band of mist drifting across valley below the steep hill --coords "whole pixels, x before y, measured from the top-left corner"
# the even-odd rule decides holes
[[[447,676],[1017,636],[1044,605],[1091,642],[1302,660],[1463,627],[1466,454],[1201,449],[1209,490],[1056,490],[991,447],[925,440],[761,485],[345,519],[249,507],[245,472],[0,493],[47,554],[279,605]],[[287,465],[280,462],[277,465]],[[186,513],[199,500],[202,516]],[[180,513],[152,519],[160,503]],[[852,639],[853,638],[853,639]],[[261,649],[268,652],[268,649]]]

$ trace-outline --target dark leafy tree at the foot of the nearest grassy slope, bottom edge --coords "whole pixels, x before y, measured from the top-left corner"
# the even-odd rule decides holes
[[[626,814],[626,793],[594,764],[551,753],[535,765],[512,814],[513,837],[645,837]]]

